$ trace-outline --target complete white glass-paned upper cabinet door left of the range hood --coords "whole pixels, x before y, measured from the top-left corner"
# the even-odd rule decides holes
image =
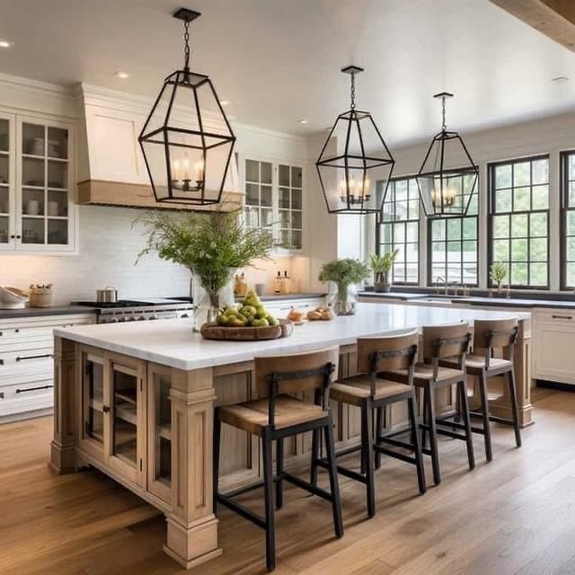
[[[71,128],[39,119],[18,119],[16,207],[20,249],[73,248]]]

